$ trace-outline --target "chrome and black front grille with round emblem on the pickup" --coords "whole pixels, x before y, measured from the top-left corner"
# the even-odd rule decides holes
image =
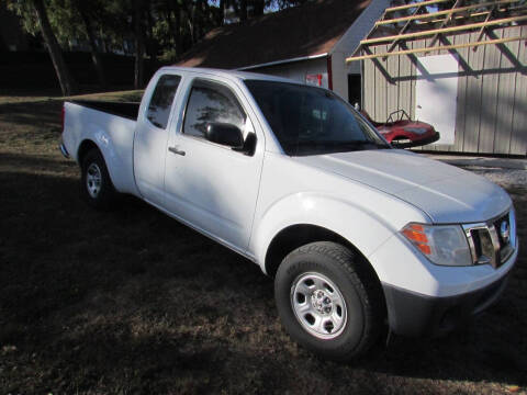
[[[481,224],[464,225],[473,264],[492,264],[500,268],[516,247],[514,210]]]

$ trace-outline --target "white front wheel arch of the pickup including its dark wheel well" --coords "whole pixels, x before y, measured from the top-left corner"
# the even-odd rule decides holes
[[[255,219],[249,250],[261,270],[273,275],[284,253],[301,245],[337,241],[366,259],[394,232],[393,224],[359,201],[303,192],[278,200]],[[288,248],[290,251],[282,251]],[[384,281],[385,268],[369,264]]]

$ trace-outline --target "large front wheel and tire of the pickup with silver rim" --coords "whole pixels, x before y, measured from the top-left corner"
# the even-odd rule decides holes
[[[347,361],[366,353],[383,327],[379,280],[360,259],[321,241],[295,249],[278,269],[274,297],[283,326],[323,358]]]

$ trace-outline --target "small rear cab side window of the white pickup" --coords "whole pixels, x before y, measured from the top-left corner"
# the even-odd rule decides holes
[[[180,76],[165,75],[159,78],[156,89],[152,94],[150,104],[146,117],[155,126],[166,128],[170,109],[172,108],[173,97],[178,90]]]

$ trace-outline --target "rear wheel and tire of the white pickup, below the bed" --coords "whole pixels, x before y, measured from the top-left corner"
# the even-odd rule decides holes
[[[117,193],[108,172],[104,158],[98,149],[91,149],[81,163],[81,194],[94,208],[109,210]]]

